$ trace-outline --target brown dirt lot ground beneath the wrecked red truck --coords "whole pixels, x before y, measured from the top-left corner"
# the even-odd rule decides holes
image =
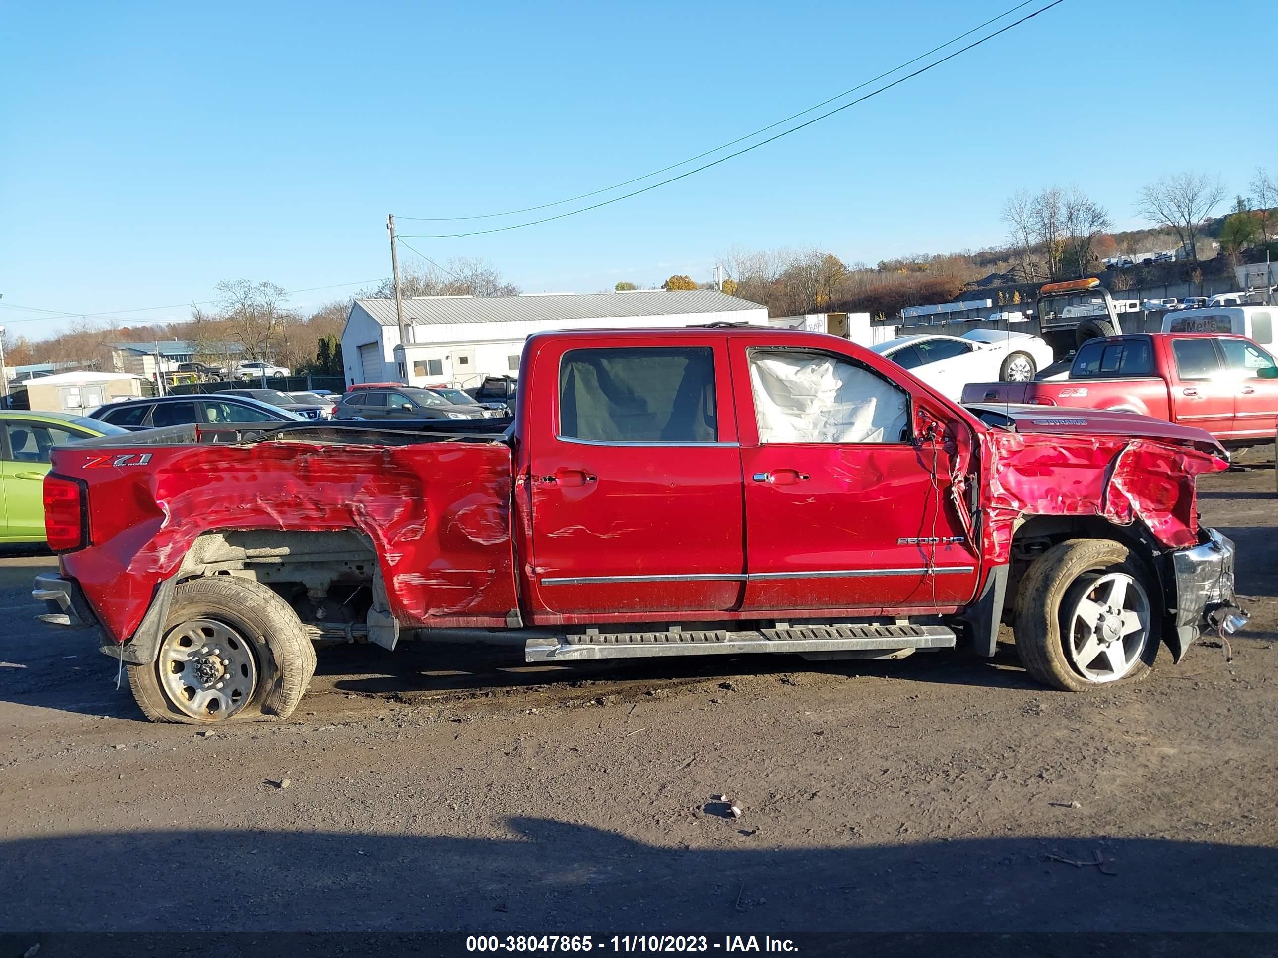
[[[417,644],[325,653],[296,722],[199,737],[32,623],[54,561],[10,549],[0,930],[1278,930],[1273,489],[1203,482],[1254,616],[1233,660],[1088,696],[1011,646],[569,671]]]

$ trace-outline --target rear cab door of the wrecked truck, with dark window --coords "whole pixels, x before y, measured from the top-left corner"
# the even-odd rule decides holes
[[[741,464],[723,337],[589,344],[535,360],[524,424],[534,616],[735,608]]]

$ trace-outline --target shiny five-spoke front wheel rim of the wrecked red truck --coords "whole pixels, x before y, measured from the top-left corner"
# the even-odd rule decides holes
[[[1091,580],[1066,617],[1065,651],[1075,672],[1102,685],[1123,678],[1149,642],[1149,597],[1126,572]]]

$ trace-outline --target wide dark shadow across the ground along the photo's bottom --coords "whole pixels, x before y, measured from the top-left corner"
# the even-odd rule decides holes
[[[731,821],[704,824],[735,833]],[[1278,930],[1273,848],[1030,837],[777,849],[754,837],[688,851],[547,819],[507,826],[509,839],[187,830],[10,840],[0,844],[0,929]],[[1098,855],[1103,867],[1070,863]]]

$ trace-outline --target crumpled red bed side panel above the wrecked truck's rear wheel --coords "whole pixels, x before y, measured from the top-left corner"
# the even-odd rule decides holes
[[[498,443],[157,447],[146,469],[86,471],[74,447],[54,471],[88,483],[92,545],[66,572],[116,641],[198,535],[233,529],[354,529],[377,551],[408,627],[498,627],[518,607],[510,450]]]

